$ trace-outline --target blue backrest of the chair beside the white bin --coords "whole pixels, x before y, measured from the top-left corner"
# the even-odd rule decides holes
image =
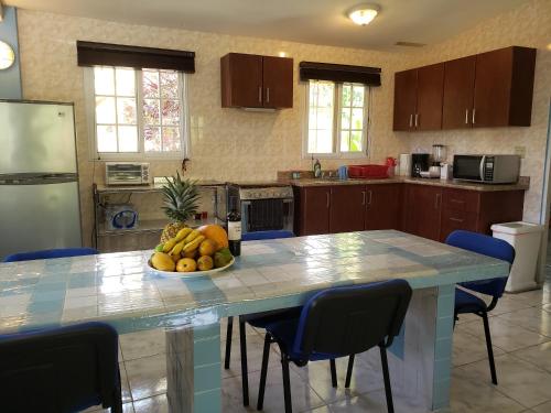
[[[507,261],[511,265],[515,261],[515,248],[503,239],[494,238],[484,233],[456,230],[447,236],[446,243],[464,250],[477,252],[483,256]],[[504,295],[507,279],[508,276],[472,281],[461,283],[461,285],[468,290],[491,295],[494,298],[499,298]]]

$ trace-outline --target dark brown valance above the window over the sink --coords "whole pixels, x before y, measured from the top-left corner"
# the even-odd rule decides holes
[[[301,80],[349,81],[380,86],[380,67],[301,62],[299,69]]]

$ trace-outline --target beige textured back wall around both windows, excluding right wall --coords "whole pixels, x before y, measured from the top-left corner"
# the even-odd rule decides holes
[[[406,64],[398,54],[129,25],[26,10],[19,12],[19,31],[24,98],[75,102],[85,241],[89,240],[93,217],[93,162],[88,155],[83,68],[76,64],[76,40],[196,52],[196,73],[190,76],[188,84],[192,127],[188,176],[276,180],[278,170],[310,167],[311,162],[301,159],[304,87],[296,73],[301,61],[381,67],[382,87],[375,89],[372,99],[370,162],[396,156],[401,151],[400,140],[391,132],[393,72]],[[223,109],[219,59],[228,52],[264,55],[285,52],[293,57],[293,109],[274,113]],[[322,166],[346,163],[322,161]],[[180,162],[152,162],[152,174],[172,174],[179,166]],[[102,164],[97,163],[96,181],[102,181],[101,174]]]

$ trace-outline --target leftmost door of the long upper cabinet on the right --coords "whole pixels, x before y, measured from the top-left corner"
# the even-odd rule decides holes
[[[417,105],[417,69],[395,74],[393,130],[413,130]]]

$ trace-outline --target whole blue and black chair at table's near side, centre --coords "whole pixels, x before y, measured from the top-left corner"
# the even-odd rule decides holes
[[[393,412],[387,348],[400,333],[411,300],[404,280],[324,290],[311,297],[300,317],[266,326],[258,410],[263,407],[271,343],[281,350],[285,412],[292,412],[289,362],[299,367],[310,361],[354,356],[379,346],[387,409]]]

